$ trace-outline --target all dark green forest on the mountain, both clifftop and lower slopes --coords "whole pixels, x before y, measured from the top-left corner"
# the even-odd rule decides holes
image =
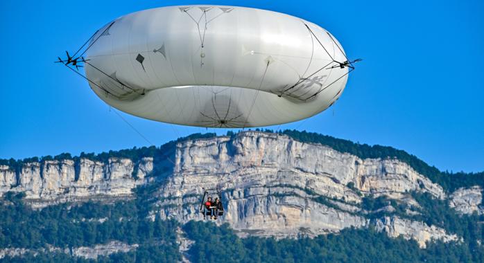
[[[272,132],[266,130],[267,132]],[[340,152],[355,154],[361,158],[398,158],[408,163],[417,172],[428,176],[433,182],[439,183],[447,192],[456,188],[481,185],[484,188],[484,172],[481,173],[449,173],[440,172],[402,150],[380,145],[361,145],[349,140],[341,140],[331,136],[309,133],[306,131],[286,130],[282,134],[291,136],[303,143],[320,143]],[[33,161],[89,158],[94,161],[107,161],[110,157],[130,158],[139,161],[150,156],[154,158],[154,175],[172,169],[173,165],[167,158],[173,160],[175,144],[185,140],[212,138],[216,134],[192,134],[178,140],[173,140],[161,147],[134,147],[120,151],[103,152],[101,154],[85,154],[71,156],[44,156],[42,158],[26,158],[24,160],[0,159],[0,165],[9,165],[19,170],[24,163]],[[237,134],[227,132],[227,136],[235,138]],[[310,194],[314,201],[331,208],[340,209],[336,200],[319,197],[307,188],[297,188],[291,185],[277,185],[295,188]],[[355,190],[353,183],[347,185]],[[1,248],[31,248],[37,253],[27,253],[23,257],[6,257],[7,262],[178,262],[182,255],[175,242],[175,229],[180,226],[176,221],[165,221],[155,217],[152,221],[148,214],[153,203],[159,201],[156,191],[159,185],[151,183],[146,187],[137,188],[136,198],[105,204],[93,201],[86,203],[64,203],[49,206],[42,210],[33,210],[22,201],[23,194],[8,192],[0,202],[0,247]],[[212,223],[191,221],[184,225],[188,237],[195,241],[189,250],[192,262],[484,262],[484,248],[479,244],[484,240],[484,215],[458,215],[449,208],[447,201],[433,199],[430,194],[419,192],[408,193],[420,204],[411,208],[419,212],[409,215],[406,204],[386,197],[363,197],[359,205],[363,210],[355,214],[370,219],[385,215],[424,221],[428,225],[444,228],[447,233],[463,237],[463,242],[429,243],[426,249],[418,248],[414,241],[402,238],[393,239],[384,233],[370,229],[347,229],[338,235],[322,235],[314,239],[281,239],[249,237],[240,239],[227,225],[217,227]],[[277,194],[274,194],[277,195]],[[187,205],[187,204],[185,204]],[[379,210],[392,206],[395,210]],[[379,212],[374,212],[379,210]],[[101,221],[99,219],[102,219]],[[38,249],[48,246],[73,248],[78,246],[94,246],[119,240],[127,244],[139,244],[135,251],[116,253],[109,257],[100,257],[97,261],[71,257],[64,253],[42,253]]]

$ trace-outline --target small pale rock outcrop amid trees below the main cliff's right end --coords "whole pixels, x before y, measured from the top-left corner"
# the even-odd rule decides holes
[[[383,217],[374,221],[373,224],[377,231],[383,231],[390,237],[402,236],[405,239],[415,239],[420,248],[426,248],[426,242],[437,239],[443,242],[459,240],[457,235],[449,235],[442,228],[399,217]]]

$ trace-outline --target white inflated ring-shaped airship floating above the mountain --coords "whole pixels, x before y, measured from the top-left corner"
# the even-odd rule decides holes
[[[105,24],[83,47],[82,56],[61,62],[82,62],[89,86],[107,105],[163,123],[215,128],[319,114],[341,96],[357,61],[317,24],[236,6],[133,12]]]

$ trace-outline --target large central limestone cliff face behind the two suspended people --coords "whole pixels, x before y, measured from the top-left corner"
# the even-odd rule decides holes
[[[241,235],[314,236],[368,226],[356,206],[361,195],[401,199],[421,191],[445,197],[440,185],[401,161],[363,160],[277,134],[190,140],[178,145],[175,156],[173,176],[160,192],[160,215],[200,219],[202,188],[221,188],[226,215],[220,221]]]

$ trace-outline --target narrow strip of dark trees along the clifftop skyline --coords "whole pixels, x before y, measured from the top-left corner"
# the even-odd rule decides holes
[[[250,131],[250,129],[248,130]],[[272,130],[266,129],[262,131],[261,129],[255,129],[254,131],[273,133]],[[244,131],[240,131],[243,133]],[[233,131],[227,131],[226,136],[236,136],[237,133]],[[439,183],[446,190],[456,190],[460,187],[481,185],[484,188],[484,182],[481,178],[484,176],[483,172],[442,172],[437,167],[431,166],[425,161],[413,154],[409,154],[403,149],[396,149],[391,146],[382,145],[368,145],[366,143],[354,143],[351,140],[336,138],[333,136],[327,136],[323,134],[318,134],[314,132],[307,131],[297,131],[286,129],[284,131],[277,132],[276,134],[285,134],[291,138],[298,140],[302,143],[317,143],[321,145],[326,145],[339,152],[347,152],[349,154],[354,154],[360,158],[398,158],[400,161],[408,163],[417,172],[424,174],[429,177],[433,182]],[[150,146],[150,147],[133,147],[131,149],[119,149],[110,150],[109,152],[95,153],[85,153],[81,152],[79,156],[71,156],[69,153],[62,153],[56,156],[41,156],[41,157],[29,157],[23,159],[14,158],[0,158],[0,165],[8,165],[9,167],[15,167],[18,169],[24,163],[29,162],[39,162],[39,161],[52,161],[52,160],[62,160],[62,159],[73,159],[74,161],[80,158],[88,158],[93,161],[107,161],[108,156],[116,156],[122,158],[131,158],[135,161],[134,156],[144,156],[153,157],[156,154],[157,149],[162,150],[167,147],[171,147],[176,143],[180,143],[184,140],[202,139],[202,138],[214,138],[217,137],[215,133],[205,133],[205,134],[191,134],[189,136],[184,136],[176,140],[171,140],[168,143],[164,143],[160,147]],[[457,177],[457,178],[456,178]]]

